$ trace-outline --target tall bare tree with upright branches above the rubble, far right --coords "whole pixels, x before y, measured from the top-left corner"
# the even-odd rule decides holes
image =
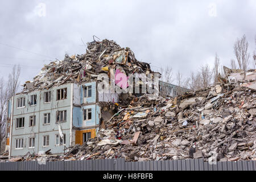
[[[241,39],[236,40],[234,44],[234,53],[237,57],[237,63],[240,69],[243,69],[246,72],[250,54],[248,52],[248,42],[246,41],[246,36],[243,35]]]

